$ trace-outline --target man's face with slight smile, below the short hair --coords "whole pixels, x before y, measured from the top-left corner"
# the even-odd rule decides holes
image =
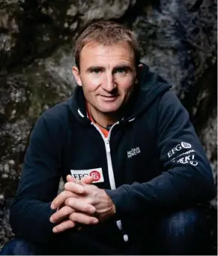
[[[133,51],[126,42],[111,46],[88,43],[80,53],[80,70],[73,67],[73,75],[91,109],[115,113],[128,101],[135,86]]]

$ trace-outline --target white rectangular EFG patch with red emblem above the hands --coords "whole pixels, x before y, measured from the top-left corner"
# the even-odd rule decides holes
[[[74,179],[82,179],[86,176],[93,176],[93,183],[104,182],[102,168],[94,168],[88,170],[70,170]]]

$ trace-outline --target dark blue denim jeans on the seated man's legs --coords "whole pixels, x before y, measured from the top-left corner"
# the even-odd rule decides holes
[[[145,242],[142,241],[139,246],[140,250],[139,248],[134,248],[134,245],[127,244],[124,251],[113,251],[104,247],[104,245],[100,245],[102,246],[100,248],[97,243],[94,244],[93,242],[90,242],[89,246],[84,244],[89,238],[81,239],[81,237],[79,238],[80,243],[77,238],[74,245],[73,239],[72,242],[68,242],[68,244],[70,243],[70,249],[64,244],[61,245],[61,241],[54,243],[52,246],[43,247],[25,239],[15,238],[4,245],[0,254],[210,254],[210,251],[208,251],[210,237],[207,219],[198,209],[187,209],[163,215],[155,221],[152,232],[145,236],[149,237],[150,240],[148,241],[146,238]],[[55,244],[58,244],[59,247],[55,248]],[[64,249],[66,250],[64,251]]]

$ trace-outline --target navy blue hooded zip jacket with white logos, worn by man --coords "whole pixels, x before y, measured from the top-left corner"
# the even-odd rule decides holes
[[[94,174],[116,207],[127,239],[151,210],[201,203],[214,197],[210,164],[171,86],[144,65],[123,119],[109,137],[91,123],[77,86],[73,96],[43,113],[31,133],[19,188],[10,209],[16,236],[47,242],[50,203],[67,174]],[[130,221],[131,220],[131,221]]]

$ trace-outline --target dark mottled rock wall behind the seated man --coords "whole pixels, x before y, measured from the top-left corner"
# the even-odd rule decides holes
[[[72,94],[73,45],[94,20],[136,32],[142,61],[169,80],[190,112],[217,183],[217,2],[215,0],[0,1],[0,248],[13,237],[9,206],[37,117]],[[211,200],[217,254],[217,199]]]

